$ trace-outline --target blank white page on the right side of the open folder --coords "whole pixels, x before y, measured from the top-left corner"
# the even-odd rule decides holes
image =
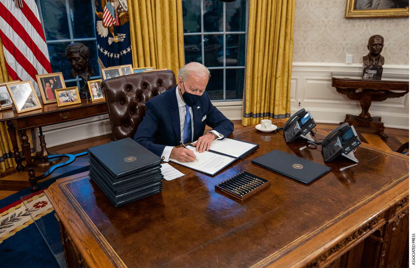
[[[258,144],[224,138],[223,140],[214,140],[210,145],[210,150],[238,158],[257,146]]]

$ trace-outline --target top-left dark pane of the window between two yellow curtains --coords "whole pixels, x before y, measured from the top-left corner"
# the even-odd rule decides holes
[[[182,0],[184,33],[200,32],[200,0]]]

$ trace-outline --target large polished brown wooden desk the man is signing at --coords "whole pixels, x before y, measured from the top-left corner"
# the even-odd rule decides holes
[[[277,120],[275,125],[284,125]],[[318,131],[316,139],[326,133]],[[82,173],[45,191],[59,218],[67,265],[77,267],[405,267],[409,158],[362,144],[359,163],[339,157],[309,185],[251,163],[274,149],[324,164],[320,147],[286,144],[254,125],[233,138],[260,147],[214,177],[185,176],[162,193],[119,207]],[[280,159],[278,159],[280,161]],[[241,171],[272,180],[248,200],[214,185]],[[79,262],[81,263],[79,263]]]

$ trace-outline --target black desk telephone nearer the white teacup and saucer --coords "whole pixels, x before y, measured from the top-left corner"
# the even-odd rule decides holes
[[[291,143],[299,136],[313,140],[309,132],[315,127],[316,123],[311,113],[309,111],[306,112],[305,109],[301,109],[287,120],[283,128],[278,128],[277,130],[283,130],[286,143]]]

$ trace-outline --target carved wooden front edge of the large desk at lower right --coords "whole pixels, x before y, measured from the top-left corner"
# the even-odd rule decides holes
[[[405,177],[407,178],[405,179]],[[298,241],[299,247],[296,247],[296,245],[289,246],[292,244],[290,243],[285,248],[253,265],[252,268],[327,267],[332,264],[337,258],[367,238],[375,230],[397,220],[399,217],[402,217],[401,215],[409,213],[409,173],[397,180],[398,182],[399,180],[403,181],[373,200],[370,200],[371,197],[365,198],[369,199],[370,202],[323,232],[318,233],[313,239],[299,238],[304,240]],[[349,223],[353,221],[354,224],[349,226]],[[341,230],[344,231],[341,232]],[[318,241],[323,242],[318,243]],[[307,254],[307,252],[310,253]]]

